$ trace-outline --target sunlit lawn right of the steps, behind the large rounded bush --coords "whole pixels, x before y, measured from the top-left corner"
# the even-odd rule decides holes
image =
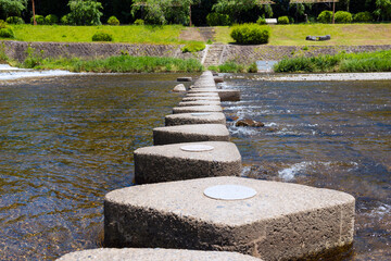
[[[217,26],[216,41],[234,42],[231,27]],[[292,24],[272,25],[268,46],[391,45],[391,24]],[[307,35],[331,35],[328,41],[307,41]]]

